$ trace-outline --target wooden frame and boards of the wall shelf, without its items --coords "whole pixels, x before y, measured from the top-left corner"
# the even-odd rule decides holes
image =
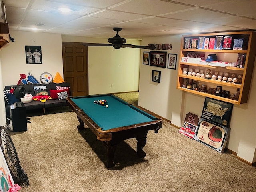
[[[216,37],[216,36],[233,36],[234,38],[248,38],[248,46],[247,50],[216,50],[216,49],[185,49],[185,38],[199,38],[199,37]],[[254,68],[254,61],[255,61],[255,55],[256,55],[256,32],[252,31],[243,31],[243,32],[223,32],[223,33],[210,33],[210,34],[194,34],[194,35],[186,35],[182,36],[181,40],[181,50],[180,50],[180,61],[179,61],[179,67],[178,67],[178,82],[177,82],[177,88],[186,92],[190,92],[193,94],[198,94],[201,96],[206,96],[218,100],[222,100],[225,102],[233,103],[233,104],[243,104],[246,103],[248,100],[248,94],[250,90],[250,84],[252,79],[252,72]],[[238,67],[215,67],[215,66],[209,66],[209,65],[203,65],[203,64],[197,64],[197,63],[187,63],[187,62],[181,62],[182,57],[186,57],[188,53],[204,53],[205,58],[209,54],[216,54],[218,57],[220,56],[224,58],[228,58],[229,55],[232,55],[234,58],[234,54],[243,53],[246,54],[246,61],[244,68],[238,68]],[[223,60],[224,61],[224,60]],[[234,62],[231,61],[225,61],[225,62]],[[223,72],[229,72],[241,74],[242,75],[242,82],[239,84],[230,83],[230,82],[224,82],[220,80],[213,80],[213,79],[205,79],[198,76],[192,76],[183,74],[183,68],[200,68],[200,69],[210,69],[212,71],[223,71]],[[195,81],[200,81],[200,84],[205,84],[207,88],[216,88],[217,86],[222,86],[222,90],[230,90],[230,94],[236,92],[237,88],[240,89],[240,93],[238,98],[233,98],[230,95],[228,97],[222,97],[222,96],[216,96],[215,94],[209,94],[206,92],[200,92],[198,90],[192,90],[188,88],[182,87],[182,84],[184,82],[184,79],[190,79]]]

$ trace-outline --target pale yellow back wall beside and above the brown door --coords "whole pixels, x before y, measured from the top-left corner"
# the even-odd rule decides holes
[[[108,39],[103,38],[64,35],[62,41],[108,43]],[[140,41],[127,40],[126,44],[140,45]],[[140,49],[88,47],[88,66],[89,95],[139,90]]]

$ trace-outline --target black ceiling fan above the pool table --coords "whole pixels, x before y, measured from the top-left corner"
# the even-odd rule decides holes
[[[156,47],[152,47],[152,46],[124,44],[124,43],[126,43],[126,39],[124,39],[118,35],[118,31],[121,31],[122,28],[113,27],[113,30],[116,31],[116,36],[108,39],[108,42],[111,44],[105,44],[105,43],[81,43],[81,44],[83,44],[84,46],[113,46],[115,49],[131,47],[131,48],[152,49],[153,50],[156,48]]]

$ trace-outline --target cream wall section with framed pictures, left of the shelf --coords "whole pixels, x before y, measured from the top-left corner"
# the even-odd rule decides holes
[[[168,36],[161,38],[143,38],[142,44],[172,44],[172,50],[156,50],[167,51],[169,53],[178,54],[176,70],[160,67],[154,67],[140,64],[140,86],[139,86],[139,105],[171,120],[173,124],[180,126],[182,123],[181,104],[182,91],[176,89],[178,78],[178,59],[180,57],[180,40],[181,36]],[[160,83],[152,82],[152,70],[161,71]]]

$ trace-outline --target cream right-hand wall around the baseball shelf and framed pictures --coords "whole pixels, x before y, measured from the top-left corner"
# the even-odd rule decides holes
[[[180,36],[143,38],[143,44],[171,43],[172,50],[180,57]],[[163,51],[163,50],[162,50]],[[143,52],[143,51],[141,51]],[[254,66],[256,63],[254,64]],[[177,62],[178,68],[178,62]],[[152,70],[160,70],[161,82],[151,81]],[[205,97],[176,89],[177,70],[140,65],[139,105],[171,120],[172,124],[181,126],[185,115],[192,112],[201,116]],[[254,67],[249,99],[246,104],[234,105],[231,117],[231,133],[226,148],[237,156],[250,162],[256,162],[256,67]],[[178,131],[178,130],[177,130]]]

